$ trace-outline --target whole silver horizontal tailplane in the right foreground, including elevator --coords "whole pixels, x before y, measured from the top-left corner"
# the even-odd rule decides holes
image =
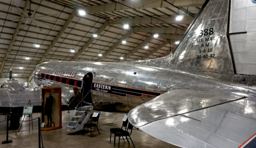
[[[214,90],[170,90],[134,108],[135,127],[182,148],[255,148],[256,99]]]

